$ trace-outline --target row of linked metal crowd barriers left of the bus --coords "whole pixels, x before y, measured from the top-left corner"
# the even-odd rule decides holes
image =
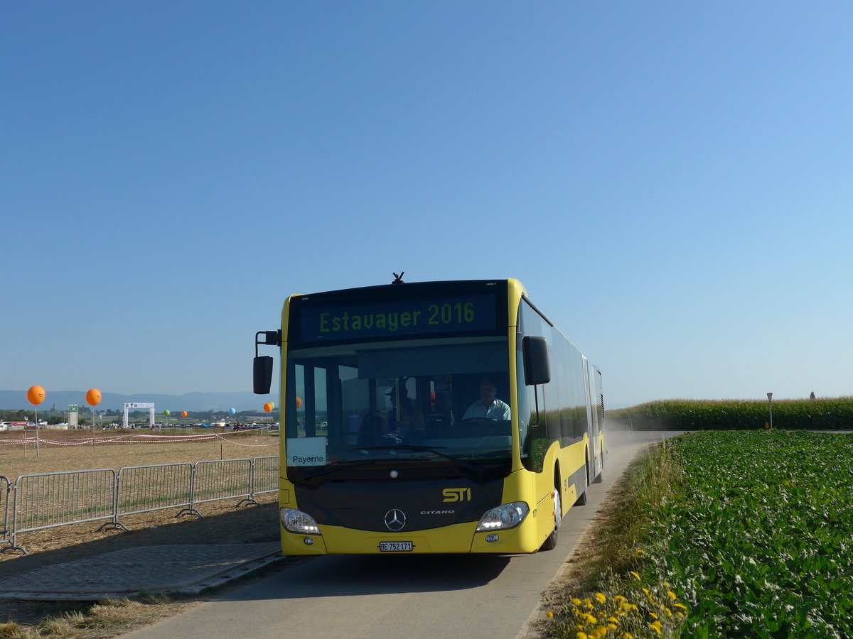
[[[0,475],[0,543],[9,544],[0,552],[26,555],[19,533],[100,520],[109,521],[98,531],[127,532],[119,517],[180,508],[176,517],[201,519],[195,504],[222,499],[258,505],[259,494],[278,490],[278,475],[278,457],[20,475],[14,482]]]

